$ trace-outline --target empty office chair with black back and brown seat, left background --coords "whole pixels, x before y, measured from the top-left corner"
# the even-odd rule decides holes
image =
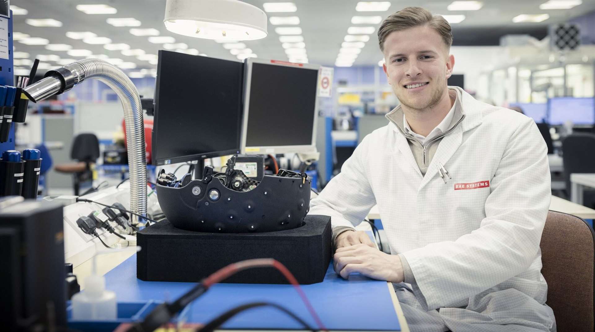
[[[92,163],[99,158],[99,140],[95,134],[79,134],[74,138],[70,158],[76,163],[56,165],[55,170],[73,175],[74,195],[79,195],[81,182],[93,180]]]

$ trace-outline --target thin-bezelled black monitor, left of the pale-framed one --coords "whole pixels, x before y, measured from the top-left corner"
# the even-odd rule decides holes
[[[239,153],[244,65],[159,50],[154,165]]]

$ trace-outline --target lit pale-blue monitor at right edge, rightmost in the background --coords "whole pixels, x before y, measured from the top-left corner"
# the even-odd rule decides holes
[[[550,125],[562,125],[571,121],[575,125],[595,124],[595,103],[593,97],[555,97],[547,100]]]

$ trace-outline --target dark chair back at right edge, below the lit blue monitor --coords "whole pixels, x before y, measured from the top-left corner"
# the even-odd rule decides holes
[[[562,141],[562,163],[566,190],[570,191],[571,173],[595,173],[595,135],[581,132],[566,136]]]

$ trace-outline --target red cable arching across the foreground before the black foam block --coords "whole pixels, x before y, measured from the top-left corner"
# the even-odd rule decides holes
[[[318,315],[314,311],[314,308],[312,307],[310,301],[308,301],[308,298],[306,298],[306,294],[303,292],[302,288],[299,286],[297,279],[295,279],[293,274],[287,269],[287,267],[285,267],[285,265],[281,264],[280,262],[278,262],[276,260],[273,260],[273,258],[256,258],[253,260],[245,260],[245,261],[240,261],[237,263],[229,264],[226,267],[220,268],[215,273],[206,277],[206,279],[202,282],[202,284],[203,284],[203,286],[205,286],[205,288],[209,288],[213,284],[221,282],[221,280],[227,279],[227,277],[230,277],[233,274],[238,273],[239,271],[246,270],[248,268],[254,268],[254,267],[274,267],[277,270],[279,270],[283,274],[283,276],[290,283],[293,284],[293,287],[295,287],[297,293],[302,298],[303,303],[306,305],[306,308],[308,308],[308,311],[314,318],[314,321],[316,321],[318,328],[320,328],[320,330],[322,330],[322,331],[328,331],[327,328],[324,327],[324,324],[322,324],[320,317],[318,317]]]

